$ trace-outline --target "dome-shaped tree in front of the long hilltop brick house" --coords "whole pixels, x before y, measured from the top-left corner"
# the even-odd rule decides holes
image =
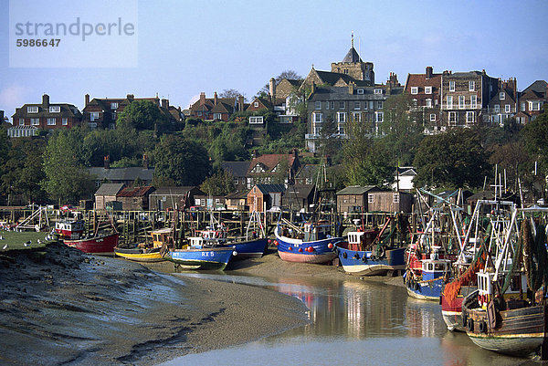
[[[170,131],[167,117],[150,100],[134,100],[124,108],[116,120],[117,129],[134,128],[137,131],[155,130]]]

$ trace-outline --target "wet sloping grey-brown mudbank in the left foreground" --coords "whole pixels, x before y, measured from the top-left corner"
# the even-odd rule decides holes
[[[0,256],[1,364],[154,364],[308,323],[278,292],[59,244]],[[268,314],[268,316],[265,316]]]

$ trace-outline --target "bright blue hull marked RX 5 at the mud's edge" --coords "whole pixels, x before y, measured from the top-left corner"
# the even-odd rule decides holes
[[[174,249],[166,259],[175,265],[188,269],[223,270],[232,257],[234,247],[214,247],[202,249]]]

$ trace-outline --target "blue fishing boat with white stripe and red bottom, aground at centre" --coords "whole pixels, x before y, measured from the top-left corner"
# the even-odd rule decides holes
[[[333,250],[342,242],[342,237],[332,236],[332,225],[327,222],[307,222],[302,228],[283,220],[276,226],[274,245],[279,257],[288,262],[327,263],[336,256]]]

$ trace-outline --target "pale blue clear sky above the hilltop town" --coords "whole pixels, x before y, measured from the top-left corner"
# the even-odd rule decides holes
[[[47,22],[47,14],[33,12],[39,5],[49,4],[51,16],[67,22],[74,15],[68,4],[72,12],[81,6],[84,16],[100,8],[90,6],[100,4],[91,0],[24,1],[26,14],[42,22]],[[548,80],[548,2],[544,0],[118,0],[111,4],[123,1],[137,9],[132,37],[136,46],[120,47],[127,62],[116,58],[114,66],[93,67],[82,60],[66,66],[76,58],[47,49],[48,57],[53,55],[49,62],[45,57],[33,58],[37,65],[43,65],[37,62],[40,59],[47,63],[43,68],[17,67],[16,62],[10,66],[10,52],[16,49],[16,39],[10,36],[14,16],[10,2],[0,0],[0,110],[11,117],[25,103],[41,102],[44,93],[52,103],[67,102],[80,110],[85,94],[91,99],[158,95],[182,109],[202,91],[212,98],[215,91],[237,89],[251,99],[269,78],[284,70],[303,77],[312,65],[330,71],[331,63],[348,52],[352,33],[361,58],[374,63],[376,83],[385,83],[395,72],[403,85],[408,73],[424,73],[427,66],[435,72],[485,69],[491,77],[517,78],[519,90],[534,80]],[[108,63],[109,52],[100,43],[90,41],[83,47],[80,57],[88,55],[89,61],[99,55]]]

